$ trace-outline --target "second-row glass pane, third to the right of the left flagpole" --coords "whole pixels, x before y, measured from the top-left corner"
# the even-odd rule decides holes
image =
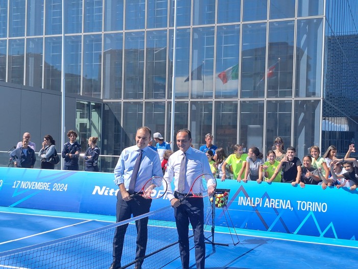
[[[103,99],[120,99],[123,33],[105,34],[104,42]]]

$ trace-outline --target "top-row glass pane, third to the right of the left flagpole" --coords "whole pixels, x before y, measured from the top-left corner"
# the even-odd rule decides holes
[[[105,1],[105,31],[123,30],[123,1]]]

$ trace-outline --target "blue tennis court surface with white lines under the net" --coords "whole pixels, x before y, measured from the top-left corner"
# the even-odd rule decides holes
[[[113,216],[9,207],[0,207],[0,219],[0,228],[2,230],[0,252],[72,236],[108,226],[115,222],[115,217]],[[163,228],[159,227],[157,229]],[[358,262],[356,257],[358,246],[356,241],[353,240],[313,238],[310,236],[243,229],[237,229],[237,233],[240,242],[234,246],[234,242],[237,241],[236,235],[234,234],[232,238],[227,229],[216,227],[214,242],[226,243],[228,246],[216,246],[208,243],[206,268],[352,268]],[[164,239],[164,237],[161,239]],[[314,240],[315,242],[309,242],[309,240]],[[87,242],[87,244],[90,243]],[[347,244],[350,246],[345,246]],[[148,248],[150,247],[148,246]],[[160,268],[181,268],[180,259],[176,258],[178,255],[177,246],[175,246],[175,250],[173,257],[163,258],[167,259],[168,262],[170,261],[170,263]],[[105,262],[93,265],[91,268],[109,267],[112,258],[111,244],[106,244],[100,252],[100,255],[106,257]],[[91,255],[99,254],[96,251],[95,254],[92,253]],[[85,257],[79,258],[80,264],[82,263],[81,259],[85,259]],[[36,267],[14,267],[0,264],[0,267],[48,268],[45,264],[39,264]],[[192,268],[195,268],[193,253],[191,253],[190,264]],[[146,267],[145,265],[146,261],[143,263],[143,268],[157,269],[153,265],[151,267]],[[70,267],[72,265],[63,268]],[[83,268],[83,266],[76,265],[73,267]]]

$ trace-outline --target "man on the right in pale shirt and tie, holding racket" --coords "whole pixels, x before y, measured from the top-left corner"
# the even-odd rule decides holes
[[[191,142],[192,139],[189,130],[183,129],[176,133],[176,144],[179,150],[169,157],[164,179],[168,182],[169,194],[167,194],[167,197],[170,200],[170,204],[174,207],[183,269],[189,268],[189,223],[194,231],[196,268],[204,269],[205,238],[203,229],[203,199],[188,198],[182,202],[180,202],[180,200],[186,196],[192,183],[198,176],[206,173],[211,174],[212,172],[206,154],[192,148],[190,146]],[[183,165],[185,167],[182,167]],[[171,194],[170,183],[173,178],[175,188],[174,193]]]

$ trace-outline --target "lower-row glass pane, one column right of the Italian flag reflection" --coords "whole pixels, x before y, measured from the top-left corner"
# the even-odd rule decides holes
[[[264,101],[241,101],[239,120],[239,141],[246,152],[251,146],[261,151],[264,137]]]

